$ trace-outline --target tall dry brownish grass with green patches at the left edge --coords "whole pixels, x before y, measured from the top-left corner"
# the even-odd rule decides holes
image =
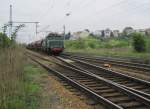
[[[0,109],[37,109],[41,89],[33,81],[36,71],[28,66],[23,48],[0,49]]]

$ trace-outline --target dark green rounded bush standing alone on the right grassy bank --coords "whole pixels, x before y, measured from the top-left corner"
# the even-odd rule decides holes
[[[145,51],[145,40],[144,40],[144,35],[140,34],[140,33],[133,33],[131,34],[131,36],[133,37],[133,47],[134,50],[137,52],[144,52]]]

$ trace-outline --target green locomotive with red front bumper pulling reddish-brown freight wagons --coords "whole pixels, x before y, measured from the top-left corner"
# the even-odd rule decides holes
[[[49,33],[46,38],[28,44],[27,48],[59,55],[64,50],[64,36],[57,33]]]

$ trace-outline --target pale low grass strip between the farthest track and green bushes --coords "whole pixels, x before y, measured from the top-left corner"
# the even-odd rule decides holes
[[[129,48],[102,48],[102,49],[66,49],[65,52],[72,52],[76,54],[88,54],[95,56],[108,56],[108,57],[123,57],[123,58],[141,58],[150,60],[150,53],[137,53]]]

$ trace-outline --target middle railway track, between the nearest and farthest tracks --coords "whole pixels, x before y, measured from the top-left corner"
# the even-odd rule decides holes
[[[150,82],[149,81],[145,81],[145,80],[138,79],[132,76],[128,76],[119,72],[108,70],[108,69],[90,64],[88,62],[84,62],[84,61],[70,58],[70,57],[69,59],[73,60],[74,62],[69,63],[67,61],[64,61],[61,58],[58,58],[58,59],[67,63],[70,66],[74,66],[78,69],[84,70],[85,72],[96,74],[100,77],[103,77],[107,80],[117,83],[126,89],[129,89],[133,92],[136,92],[150,99]]]

